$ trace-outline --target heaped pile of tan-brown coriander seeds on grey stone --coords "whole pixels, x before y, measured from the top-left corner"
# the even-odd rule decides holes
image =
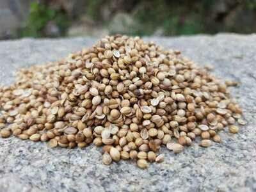
[[[106,36],[56,62],[22,68],[0,87],[0,135],[51,147],[102,147],[102,162],[161,163],[166,146],[180,153],[221,142],[222,129],[244,125],[221,83],[179,51],[139,37]],[[227,128],[226,128],[227,127]]]

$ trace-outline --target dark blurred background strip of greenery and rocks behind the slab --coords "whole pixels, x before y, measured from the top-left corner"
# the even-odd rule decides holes
[[[256,0],[1,0],[0,39],[255,33]]]

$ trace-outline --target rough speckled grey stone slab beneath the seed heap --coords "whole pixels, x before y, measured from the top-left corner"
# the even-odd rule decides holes
[[[180,49],[200,65],[212,63],[219,77],[241,83],[232,88],[248,124],[239,134],[221,132],[223,142],[194,144],[165,161],[140,170],[134,162],[101,163],[100,148],[49,148],[45,143],[0,138],[0,191],[256,191],[256,35],[221,34],[145,38]],[[16,68],[54,61],[95,40],[22,39],[0,42],[0,82],[13,81]]]

